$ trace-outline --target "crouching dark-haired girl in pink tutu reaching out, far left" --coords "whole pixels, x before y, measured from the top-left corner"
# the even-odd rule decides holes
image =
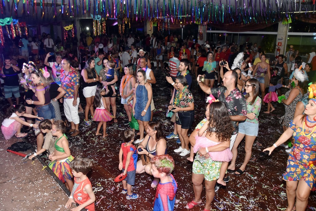
[[[4,120],[2,122],[1,131],[5,140],[12,138],[14,135],[16,136],[16,138],[27,137],[27,133],[21,133],[22,125],[26,125],[26,126],[34,127],[34,128],[38,127],[37,124],[30,124],[24,121],[24,118],[21,118],[22,116],[27,117],[27,118],[38,118],[40,120],[44,119],[42,117],[26,114],[24,105],[21,105],[21,104],[14,105],[4,115]]]

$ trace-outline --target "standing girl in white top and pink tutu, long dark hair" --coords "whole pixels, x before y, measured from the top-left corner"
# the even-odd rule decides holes
[[[105,88],[103,86],[98,86],[97,90],[95,91],[95,97],[94,97],[94,116],[93,121],[98,121],[99,125],[97,128],[96,135],[101,135],[100,129],[103,127],[103,137],[108,136],[106,133],[106,122],[111,121],[113,119],[113,115],[108,111],[108,108],[106,106],[105,102]]]

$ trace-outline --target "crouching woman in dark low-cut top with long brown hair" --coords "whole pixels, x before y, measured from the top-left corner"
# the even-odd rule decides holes
[[[142,151],[138,152],[140,155],[146,155],[150,160],[156,155],[165,155],[167,154],[167,142],[163,138],[163,132],[161,128],[161,123],[158,121],[150,122],[149,127],[147,128],[147,135],[145,136],[142,143],[139,144],[137,149],[141,148]],[[136,173],[142,174],[146,172],[149,175],[152,175],[151,164],[143,165],[142,160],[137,162]],[[151,183],[151,187],[155,188],[159,183],[159,179],[155,178]]]

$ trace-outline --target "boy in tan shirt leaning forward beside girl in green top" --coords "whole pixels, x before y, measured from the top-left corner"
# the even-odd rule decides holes
[[[43,148],[41,148],[38,152],[34,153],[28,159],[32,160],[36,155],[41,155],[41,153],[45,152],[46,150],[48,151],[48,155],[51,155],[55,151],[55,141],[56,137],[52,135],[52,122],[48,119],[43,120],[39,124],[40,131],[42,133],[46,133],[44,137],[44,145]]]

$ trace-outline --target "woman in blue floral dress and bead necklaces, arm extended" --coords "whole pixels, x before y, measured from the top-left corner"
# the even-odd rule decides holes
[[[316,190],[316,99],[310,99],[305,115],[298,115],[279,140],[264,149],[271,152],[293,136],[293,149],[289,154],[283,180],[286,181],[288,208],[286,211],[303,211],[307,208],[311,191]],[[295,202],[296,197],[296,202]]]

